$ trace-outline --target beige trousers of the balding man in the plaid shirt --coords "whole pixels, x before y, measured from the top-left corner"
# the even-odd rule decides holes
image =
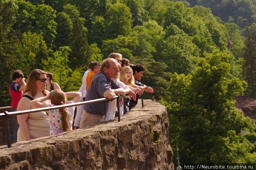
[[[80,128],[98,125],[105,120],[105,117],[106,115],[90,114],[83,109],[80,120]]]

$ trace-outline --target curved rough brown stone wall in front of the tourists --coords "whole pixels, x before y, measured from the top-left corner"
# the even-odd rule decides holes
[[[97,126],[0,147],[4,170],[174,170],[166,107],[144,100]]]

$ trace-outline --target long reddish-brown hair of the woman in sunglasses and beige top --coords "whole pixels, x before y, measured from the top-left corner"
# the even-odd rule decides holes
[[[25,87],[25,90],[23,91],[24,93],[29,92],[32,95],[32,97],[35,97],[35,95],[37,94],[35,82],[37,81],[37,79],[41,74],[46,75],[46,73],[41,69],[34,69],[33,71],[31,71],[31,73],[29,74],[29,77],[27,78],[27,82],[26,82],[27,85]],[[42,92],[44,96],[47,96],[48,92],[46,90],[43,90]]]

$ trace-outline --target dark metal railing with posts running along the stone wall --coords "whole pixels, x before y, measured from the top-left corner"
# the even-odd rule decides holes
[[[129,95],[123,95],[123,96],[117,95],[117,96],[114,96],[113,98],[110,98],[110,99],[108,99],[108,98],[101,98],[101,99],[95,99],[95,100],[90,100],[90,101],[66,104],[66,105],[61,105],[61,106],[44,107],[44,108],[40,108],[40,109],[30,109],[30,110],[22,110],[22,111],[16,111],[16,112],[7,112],[7,111],[5,111],[4,113],[0,113],[0,117],[6,117],[7,134],[8,134],[7,147],[8,148],[12,147],[12,145],[11,145],[10,126],[9,126],[9,116],[14,116],[14,115],[19,115],[19,114],[35,113],[35,112],[41,112],[41,111],[53,110],[53,109],[60,109],[60,108],[64,108],[64,107],[86,105],[86,104],[90,104],[90,103],[103,102],[103,101],[108,101],[108,100],[112,100],[112,99],[117,99],[117,112],[118,112],[117,115],[118,115],[118,122],[119,122],[120,121],[120,103],[119,103],[119,98],[128,97],[128,96]],[[141,97],[142,97],[142,95],[141,95]],[[143,97],[141,99],[142,99],[142,107],[144,107],[143,106]]]

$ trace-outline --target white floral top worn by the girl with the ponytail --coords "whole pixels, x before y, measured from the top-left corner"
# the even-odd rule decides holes
[[[75,103],[75,102],[68,101],[66,104],[71,104],[71,103]],[[49,104],[48,106],[52,107],[55,105]],[[75,106],[67,107],[66,109],[69,112],[68,122],[69,122],[69,126],[72,130]],[[60,113],[59,109],[49,110],[49,120],[50,120],[50,135],[57,135],[58,133],[65,132],[65,130],[62,128],[62,125],[61,125],[61,113]]]

